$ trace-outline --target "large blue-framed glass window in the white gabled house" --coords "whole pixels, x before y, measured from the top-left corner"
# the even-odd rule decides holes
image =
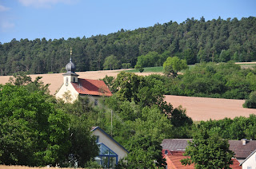
[[[113,168],[118,164],[118,155],[104,143],[98,143],[99,155],[95,161],[104,168]]]

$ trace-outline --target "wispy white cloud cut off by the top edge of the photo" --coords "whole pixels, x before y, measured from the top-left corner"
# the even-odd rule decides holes
[[[70,4],[72,0],[18,0],[23,6],[33,6],[36,8],[50,8],[57,3]]]

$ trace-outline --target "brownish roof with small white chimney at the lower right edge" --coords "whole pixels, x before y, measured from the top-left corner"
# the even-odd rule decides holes
[[[256,140],[246,140],[246,145],[242,145],[242,140],[229,140],[229,143],[237,159],[246,159],[256,149]]]

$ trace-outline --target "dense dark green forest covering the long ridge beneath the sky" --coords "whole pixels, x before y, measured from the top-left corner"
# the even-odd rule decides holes
[[[72,30],[70,30],[72,31]],[[136,65],[138,56],[154,51],[186,59],[188,64],[200,61],[256,60],[256,18],[222,18],[205,21],[188,18],[185,22],[155,24],[135,30],[65,40],[46,38],[13,39],[0,43],[0,75],[59,73],[70,57],[77,71],[103,69],[106,57],[118,58],[118,68]],[[125,64],[124,64],[125,63]],[[129,64],[128,64],[129,65]]]

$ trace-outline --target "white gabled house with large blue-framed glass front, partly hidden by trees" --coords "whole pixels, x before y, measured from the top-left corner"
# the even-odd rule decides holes
[[[95,161],[105,168],[114,167],[120,159],[126,157],[129,151],[99,127],[93,127],[91,132],[97,138],[99,155]]]

